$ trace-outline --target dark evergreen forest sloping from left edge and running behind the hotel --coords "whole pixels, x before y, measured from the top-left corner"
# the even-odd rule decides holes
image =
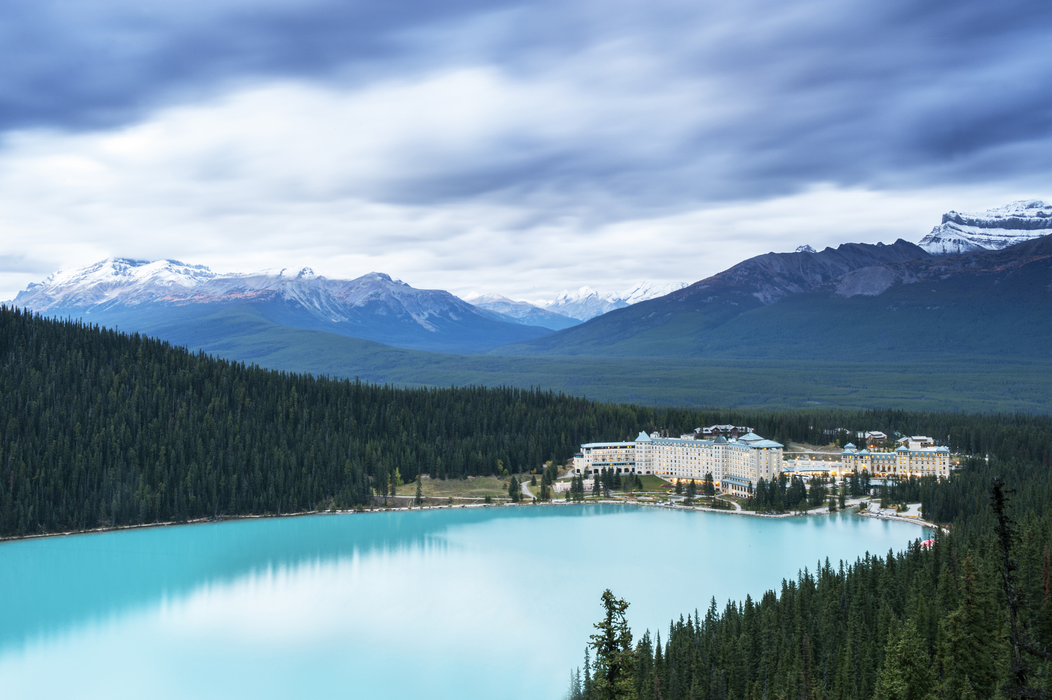
[[[1047,416],[654,409],[514,388],[289,375],[0,307],[0,532],[353,507],[398,478],[524,472],[582,442],[748,424],[928,433],[1040,464]]]

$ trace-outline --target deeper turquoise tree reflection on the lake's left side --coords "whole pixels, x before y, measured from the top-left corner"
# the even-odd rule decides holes
[[[622,506],[443,508],[260,518],[0,545],[0,649],[145,609],[203,585],[303,566],[451,546],[450,528],[497,519],[582,517]],[[32,582],[32,583],[31,583]]]

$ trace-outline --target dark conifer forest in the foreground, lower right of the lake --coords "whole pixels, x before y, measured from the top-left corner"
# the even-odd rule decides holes
[[[991,418],[991,421],[993,419]],[[1021,438],[1021,435],[1017,439]],[[1047,431],[1029,438],[1050,444]],[[1009,443],[1003,444],[1009,452]],[[1021,451],[1027,452],[1027,451]],[[1017,522],[997,536],[991,485]],[[950,482],[896,487],[952,521],[930,547],[816,562],[758,600],[696,609],[633,643],[619,613],[598,625],[568,697],[639,700],[985,700],[1050,695],[1052,474],[1047,459],[968,460]],[[905,492],[912,493],[906,494]],[[898,500],[896,497],[895,500]],[[1005,586],[1006,561],[1012,588]],[[1008,592],[1017,601],[1013,631]],[[702,602],[702,601],[699,601]],[[623,603],[622,603],[623,605]],[[582,640],[584,641],[584,640]],[[1018,648],[1018,655],[1016,655]]]

